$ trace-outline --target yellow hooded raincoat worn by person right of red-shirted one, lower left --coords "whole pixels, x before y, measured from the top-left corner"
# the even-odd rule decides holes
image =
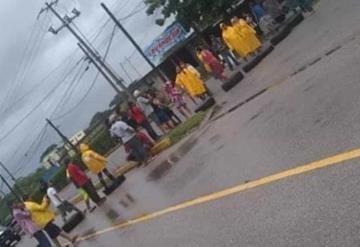
[[[104,156],[90,150],[89,146],[83,143],[80,144],[80,151],[82,161],[92,173],[99,174],[105,169],[107,159]]]

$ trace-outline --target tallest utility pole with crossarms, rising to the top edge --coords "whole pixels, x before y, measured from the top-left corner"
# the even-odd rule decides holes
[[[54,0],[54,1],[50,2],[50,3],[46,2],[45,3],[46,8],[41,9],[41,11],[40,11],[40,14],[41,14],[42,12],[44,12],[46,10],[50,10],[55,15],[55,17],[57,19],[59,19],[59,21],[62,23],[62,26],[60,26],[57,29],[55,29],[53,27],[50,27],[49,31],[54,33],[54,34],[57,34],[63,28],[67,28],[70,31],[70,33],[72,35],[74,35],[74,37],[79,41],[79,43],[85,48],[85,50],[87,51],[89,57],[92,57],[94,59],[94,65],[96,63],[98,63],[99,66],[96,66],[96,67],[97,68],[99,68],[99,67],[103,68],[109,74],[109,76],[112,78],[112,80],[109,77],[106,77],[107,82],[116,91],[116,93],[120,94],[121,91],[117,88],[117,86],[115,85],[113,80],[116,82],[116,84],[118,84],[122,88],[122,90],[125,93],[127,93],[130,97],[132,97],[132,94],[129,92],[129,90],[126,88],[126,86],[123,85],[123,80],[116,75],[116,73],[110,68],[110,66],[108,64],[106,64],[103,61],[103,59],[99,56],[99,53],[97,51],[94,51],[93,48],[91,48],[90,45],[87,42],[85,42],[85,40],[83,40],[82,37],[70,25],[72,23],[72,21],[80,15],[80,12],[78,10],[76,10],[76,9],[73,9],[72,10],[72,13],[73,13],[72,17],[69,17],[67,15],[65,15],[65,17],[61,17],[60,14],[54,8],[54,5],[56,5],[57,2],[58,2],[58,0]],[[102,73],[102,72],[100,72],[100,73]]]

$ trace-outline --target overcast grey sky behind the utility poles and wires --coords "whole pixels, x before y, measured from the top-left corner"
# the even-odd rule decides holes
[[[102,54],[114,25],[108,22],[104,26],[108,17],[100,2],[104,2],[120,19],[139,11],[122,23],[142,47],[150,44],[163,30],[154,24],[155,16],[145,14],[143,0],[60,0],[57,9],[62,14],[73,7],[81,11],[75,23]],[[115,94],[99,77],[79,104],[94,80],[95,69],[90,66],[82,79],[72,84],[76,73],[84,71],[86,64],[72,70],[82,57],[76,40],[65,29],[56,36],[46,32],[50,25],[60,25],[50,13],[44,12],[36,19],[44,0],[2,0],[0,4],[0,160],[17,176],[23,176],[39,167],[39,155],[47,146],[60,142],[50,128],[44,131],[45,118],[54,119],[67,136],[72,136],[88,126],[94,113],[108,108]],[[101,34],[93,40],[99,31]],[[118,31],[108,62],[125,80],[128,79],[119,63],[129,56],[141,74],[149,71]],[[138,77],[128,64],[125,67],[133,79]],[[68,88],[70,90],[66,93]],[[58,119],[77,104],[70,114]],[[36,106],[39,107],[31,112]],[[29,117],[25,118],[27,115]],[[18,127],[14,129],[16,125]]]

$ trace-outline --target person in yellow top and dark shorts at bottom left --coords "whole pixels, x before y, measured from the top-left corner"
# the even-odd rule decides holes
[[[49,209],[50,201],[46,196],[43,198],[41,204],[34,202],[28,195],[24,196],[24,201],[25,208],[31,213],[32,220],[47,233],[56,246],[61,247],[58,240],[59,237],[68,240],[72,244],[77,241],[77,235],[70,236],[66,234],[54,223],[55,214]]]

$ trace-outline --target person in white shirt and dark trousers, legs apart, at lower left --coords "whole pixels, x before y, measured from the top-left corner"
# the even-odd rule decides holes
[[[49,183],[49,187],[46,191],[47,197],[50,199],[51,204],[54,208],[58,210],[61,215],[62,220],[64,223],[66,222],[67,213],[71,213],[72,211],[76,211],[78,213],[82,212],[80,209],[72,205],[70,202],[63,200],[60,198],[59,194],[57,193],[56,189],[52,186],[51,182]]]

